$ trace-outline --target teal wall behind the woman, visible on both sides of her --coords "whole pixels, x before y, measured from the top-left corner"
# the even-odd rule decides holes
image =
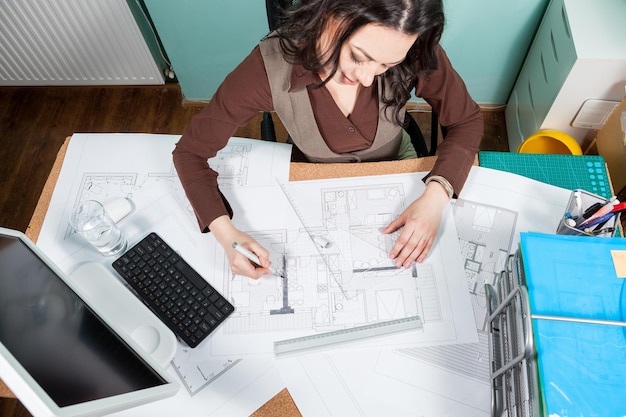
[[[506,104],[549,0],[444,0],[442,45],[473,98]],[[267,33],[263,0],[144,0],[185,99],[209,100]]]

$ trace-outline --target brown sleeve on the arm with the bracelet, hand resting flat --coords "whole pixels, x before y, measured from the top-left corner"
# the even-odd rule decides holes
[[[439,68],[418,81],[415,93],[432,106],[439,124],[448,132],[437,148],[437,162],[424,180],[441,175],[458,195],[480,147],[484,122],[480,107],[470,97],[443,48],[438,47],[437,57]]]

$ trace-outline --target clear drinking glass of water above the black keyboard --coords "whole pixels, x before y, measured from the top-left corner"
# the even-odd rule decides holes
[[[70,225],[105,256],[120,254],[128,246],[126,237],[98,201],[86,200],[76,207]]]

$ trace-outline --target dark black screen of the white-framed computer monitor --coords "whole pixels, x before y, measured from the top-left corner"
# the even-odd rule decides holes
[[[34,245],[0,234],[0,343],[58,407],[168,383]]]

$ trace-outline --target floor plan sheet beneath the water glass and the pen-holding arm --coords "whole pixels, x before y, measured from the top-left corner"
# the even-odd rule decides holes
[[[210,246],[214,246],[214,240],[210,235],[198,233],[193,210],[174,170],[172,151],[178,138],[175,135],[75,134],[37,244],[66,271],[81,262],[104,261],[72,233],[67,222],[69,213],[87,199],[106,202],[115,197],[127,197],[136,207],[135,212],[120,223],[129,244],[140,240],[148,231],[161,230],[168,243],[190,257],[200,248],[213,252]],[[265,162],[251,164],[252,154]],[[290,145],[232,138],[211,162],[220,174],[220,182],[223,179],[223,187],[262,188],[277,179],[287,181],[290,154]],[[206,264],[206,252],[202,255],[196,263]]]

